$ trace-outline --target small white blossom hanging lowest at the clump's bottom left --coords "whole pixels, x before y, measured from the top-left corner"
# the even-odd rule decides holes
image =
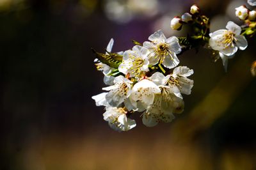
[[[135,120],[127,118],[126,114],[127,111],[124,108],[106,107],[106,112],[104,112],[103,116],[111,128],[121,132],[136,127]]]

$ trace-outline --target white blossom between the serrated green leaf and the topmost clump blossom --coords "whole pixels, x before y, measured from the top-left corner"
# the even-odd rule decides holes
[[[130,77],[139,77],[141,73],[148,72],[149,50],[140,45],[135,45],[132,50],[124,52],[123,61],[119,65],[119,72],[130,73]]]

